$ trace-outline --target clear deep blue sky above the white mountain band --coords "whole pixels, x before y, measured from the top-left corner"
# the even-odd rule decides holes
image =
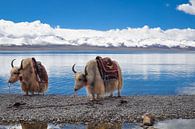
[[[0,19],[40,20],[71,29],[195,28],[195,15],[176,7],[188,0],[1,0]]]

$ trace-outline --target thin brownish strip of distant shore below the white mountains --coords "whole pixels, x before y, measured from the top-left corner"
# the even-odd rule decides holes
[[[99,47],[99,46],[89,46],[89,45],[24,45],[24,46],[0,46],[0,51],[48,51],[48,50],[62,50],[62,51],[195,51],[195,48],[168,48],[168,47]]]

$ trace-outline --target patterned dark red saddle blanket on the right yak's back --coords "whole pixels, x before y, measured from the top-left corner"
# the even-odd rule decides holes
[[[98,69],[103,80],[118,79],[118,65],[109,57],[96,57]]]

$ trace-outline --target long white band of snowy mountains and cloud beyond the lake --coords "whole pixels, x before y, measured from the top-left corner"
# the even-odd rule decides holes
[[[128,47],[195,47],[195,29],[142,28],[98,31],[52,28],[40,21],[14,23],[0,20],[0,45],[94,45]]]

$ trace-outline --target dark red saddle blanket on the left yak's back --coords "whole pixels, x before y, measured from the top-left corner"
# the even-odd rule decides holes
[[[45,70],[45,67],[41,64],[40,61],[36,61],[35,58],[32,58],[33,67],[39,83],[48,83],[48,75]]]

